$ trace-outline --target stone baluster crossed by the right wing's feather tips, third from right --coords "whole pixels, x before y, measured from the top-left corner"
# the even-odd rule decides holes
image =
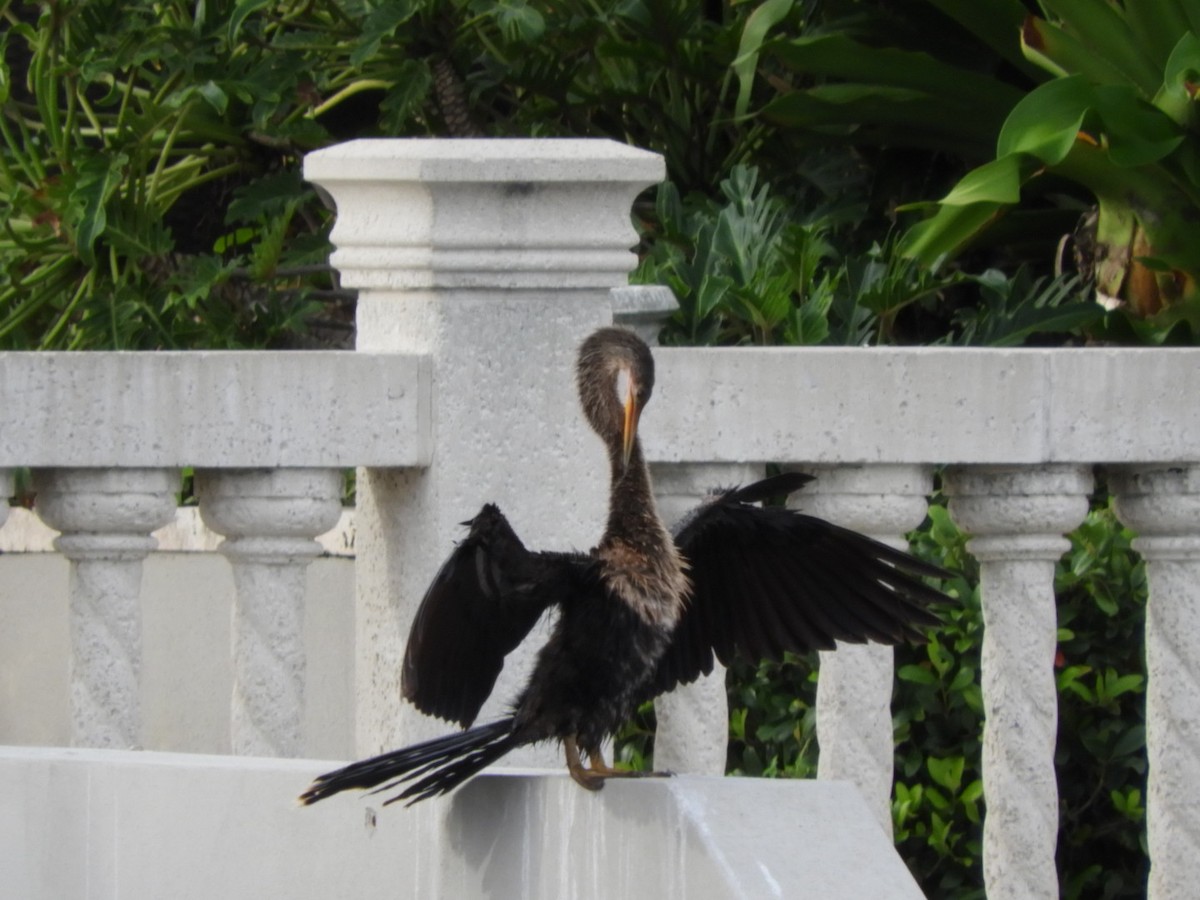
[[[934,490],[926,466],[806,467],[817,476],[791,504],[804,512],[906,550],[904,534],[925,517]],[[892,834],[894,664],[890,647],[823,650],[817,680],[817,778],[852,781]]]

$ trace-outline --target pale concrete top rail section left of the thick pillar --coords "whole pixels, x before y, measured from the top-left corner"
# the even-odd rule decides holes
[[[420,466],[426,358],[0,353],[0,468]]]

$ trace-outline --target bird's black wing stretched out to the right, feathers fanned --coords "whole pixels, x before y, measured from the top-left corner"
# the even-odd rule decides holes
[[[676,530],[692,595],[664,655],[653,692],[728,665],[835,641],[920,638],[946,596],[920,581],[948,572],[846,528],[782,506],[751,503],[791,493],[811,478],[788,473],[716,494]]]

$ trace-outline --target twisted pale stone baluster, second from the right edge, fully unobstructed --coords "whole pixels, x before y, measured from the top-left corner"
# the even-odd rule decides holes
[[[954,468],[950,515],[974,535],[983,602],[984,883],[991,900],[1057,898],[1054,569],[1087,515],[1080,466]]]

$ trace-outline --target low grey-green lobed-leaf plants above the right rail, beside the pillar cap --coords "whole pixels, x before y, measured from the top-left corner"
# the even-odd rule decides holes
[[[1075,276],[938,272],[889,240],[841,252],[836,210],[802,215],[754,168],[734,167],[715,200],[665,182],[654,218],[634,280],[679,299],[665,343],[1014,347],[1080,340],[1105,319]]]

